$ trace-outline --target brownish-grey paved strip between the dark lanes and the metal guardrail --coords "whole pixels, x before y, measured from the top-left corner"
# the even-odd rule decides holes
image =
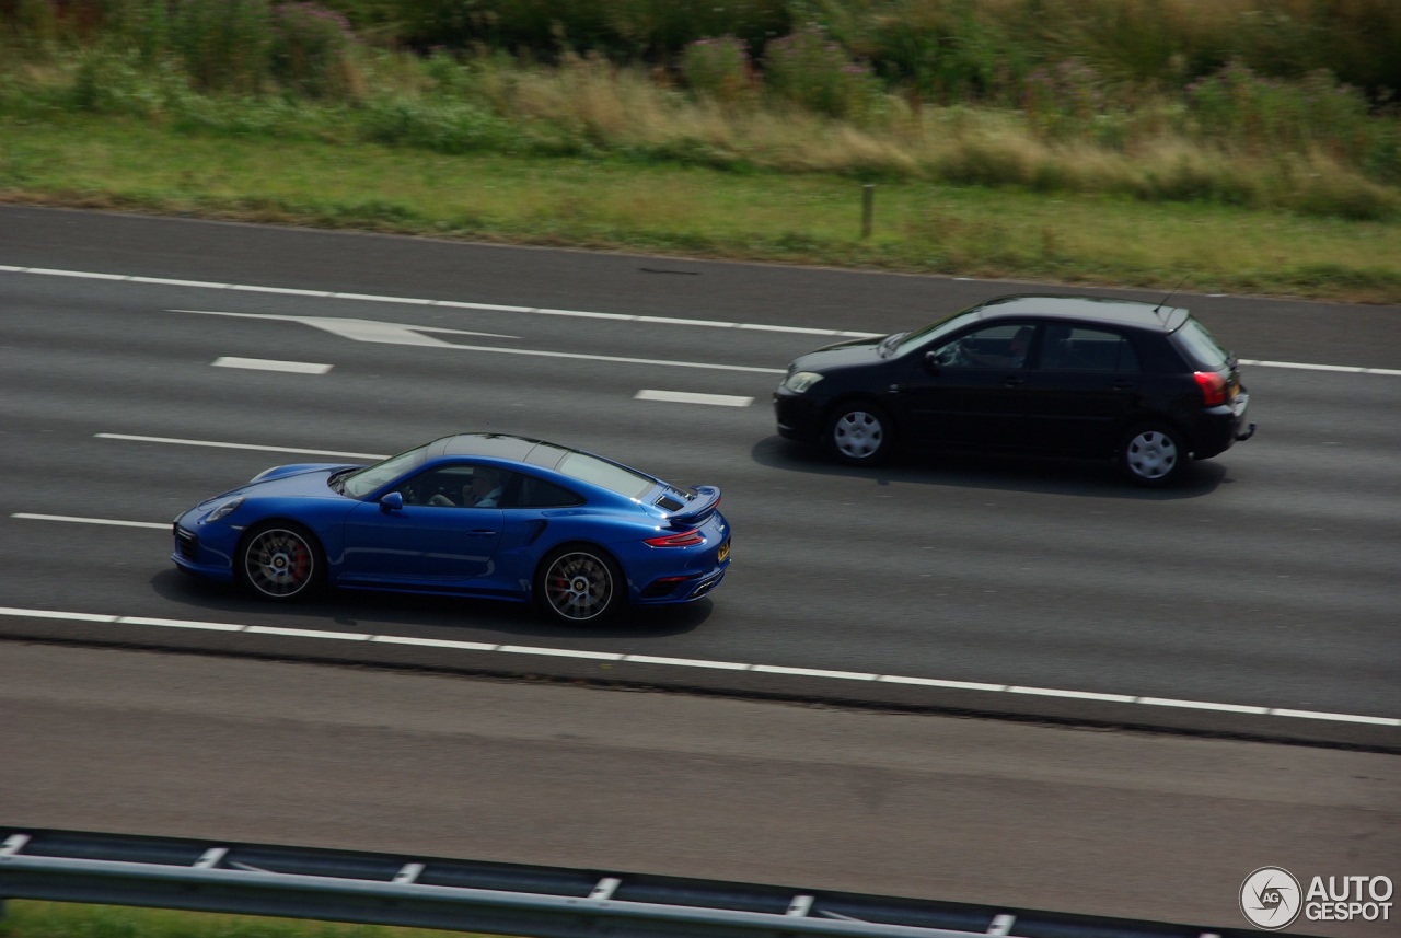
[[[307,662],[0,645],[6,825],[1248,928],[1401,881],[1394,755]],[[1383,938],[1390,921],[1307,921]],[[1024,934],[1013,930],[1012,934]]]

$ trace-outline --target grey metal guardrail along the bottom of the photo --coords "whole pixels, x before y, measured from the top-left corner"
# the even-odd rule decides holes
[[[0,903],[49,899],[532,938],[1245,938],[779,886],[0,827]]]

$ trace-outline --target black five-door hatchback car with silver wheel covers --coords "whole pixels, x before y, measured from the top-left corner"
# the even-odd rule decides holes
[[[1248,440],[1248,406],[1236,357],[1187,309],[1059,295],[818,349],[773,392],[782,435],[848,463],[897,444],[1111,458],[1143,486]]]

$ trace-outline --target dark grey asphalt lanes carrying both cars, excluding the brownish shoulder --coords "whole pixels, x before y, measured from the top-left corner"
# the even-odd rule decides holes
[[[0,605],[18,610],[0,616],[3,631],[1401,736],[1398,309],[1177,297],[1241,358],[1295,367],[1247,365],[1257,437],[1199,463],[1185,487],[1143,493],[1098,463],[948,456],[850,470],[776,437],[769,393],[796,354],[1027,284],[32,209],[0,211]],[[226,367],[238,360],[305,371]],[[689,608],[567,631],[461,601],[272,608],[189,582],[168,561],[163,525],[269,465],[387,455],[461,430],[722,486],[736,531],[726,584]],[[423,654],[25,610],[604,658]]]

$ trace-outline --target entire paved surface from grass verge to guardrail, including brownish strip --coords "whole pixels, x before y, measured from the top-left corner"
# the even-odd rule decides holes
[[[1401,309],[1174,297],[1259,431],[1170,491],[776,437],[794,356],[1038,290],[0,207],[0,815],[1223,927],[1257,865],[1401,881]],[[464,430],[722,486],[724,585],[566,630],[168,559],[268,466]]]

